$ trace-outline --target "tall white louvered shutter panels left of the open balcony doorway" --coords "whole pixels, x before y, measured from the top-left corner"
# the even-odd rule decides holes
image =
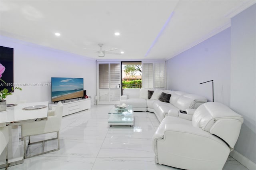
[[[98,104],[120,103],[121,63],[98,62]]]

